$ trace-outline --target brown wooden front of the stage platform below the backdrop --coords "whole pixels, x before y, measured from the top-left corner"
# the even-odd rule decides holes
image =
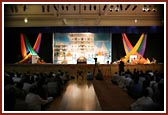
[[[83,76],[86,76],[87,72],[93,72],[95,68],[95,74],[98,68],[103,72],[104,78],[111,78],[115,72],[118,72],[118,64],[5,64],[4,71],[7,72],[19,72],[19,73],[36,73],[36,72],[57,72],[61,70],[68,72],[71,76],[76,76],[78,70],[82,70]],[[160,71],[164,73],[164,64],[143,64],[143,65],[125,65],[125,70],[129,69],[133,72],[134,69],[142,70],[146,72],[148,70]]]

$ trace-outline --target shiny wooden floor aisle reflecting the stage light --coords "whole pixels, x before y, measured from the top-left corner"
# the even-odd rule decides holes
[[[72,80],[46,111],[101,111],[101,107],[91,81]]]

